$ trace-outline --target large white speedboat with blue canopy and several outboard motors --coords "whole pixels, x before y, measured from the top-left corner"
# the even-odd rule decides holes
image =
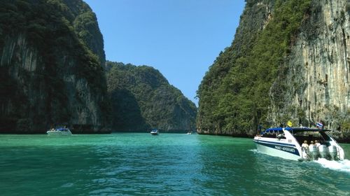
[[[259,152],[289,160],[344,160],[343,148],[328,132],[309,127],[274,127],[262,131],[253,141]]]

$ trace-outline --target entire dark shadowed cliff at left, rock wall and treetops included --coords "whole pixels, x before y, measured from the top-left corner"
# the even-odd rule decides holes
[[[92,44],[103,40],[90,43],[79,32],[97,34],[97,39],[102,35],[97,26],[83,30],[87,20],[76,22],[81,15],[93,15],[83,1],[66,2],[1,3],[0,132],[43,133],[67,125],[77,133],[108,127],[103,44]],[[72,2],[83,5],[79,14],[72,14]]]

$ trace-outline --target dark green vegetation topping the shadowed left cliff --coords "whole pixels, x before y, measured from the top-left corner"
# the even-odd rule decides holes
[[[83,1],[78,2],[83,4]],[[85,3],[84,5],[87,8]],[[62,47],[62,50],[68,50],[72,56],[79,57],[77,73],[87,78],[90,83],[98,85],[101,79],[97,76],[103,74],[95,73],[103,72],[99,58],[104,57],[98,57],[88,48],[90,45],[87,40],[94,35],[83,28],[88,26],[88,21],[97,25],[96,17],[92,15],[94,16],[94,13],[88,8],[76,19],[76,15],[71,13],[62,0],[5,0],[0,8],[0,43],[3,45],[5,39],[10,36],[26,34],[31,45],[35,45],[41,52],[45,64],[57,62],[55,50]],[[53,73],[48,74],[55,76]]]

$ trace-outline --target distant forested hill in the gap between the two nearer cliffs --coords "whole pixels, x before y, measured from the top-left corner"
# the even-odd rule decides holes
[[[150,66],[107,62],[113,131],[195,130],[197,109]]]

